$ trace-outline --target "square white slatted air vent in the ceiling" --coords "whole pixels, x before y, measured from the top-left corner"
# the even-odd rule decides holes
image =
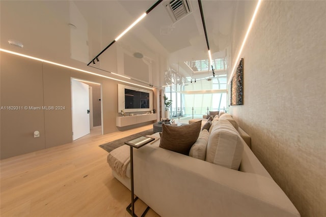
[[[187,0],[172,0],[166,4],[166,9],[168,10],[173,23],[192,12],[190,2]]]

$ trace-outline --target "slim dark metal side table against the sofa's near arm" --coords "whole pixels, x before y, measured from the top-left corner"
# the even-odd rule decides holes
[[[154,138],[141,136],[137,139],[133,139],[131,141],[125,142],[124,144],[129,145],[130,147],[130,180],[131,180],[131,203],[127,206],[127,211],[131,216],[137,217],[137,215],[134,213],[134,202],[138,200],[138,197],[134,198],[134,192],[133,192],[133,148],[141,148],[144,145],[148,144],[149,142],[153,141]],[[131,208],[131,209],[130,209]],[[142,214],[142,217],[146,215],[147,211],[149,210],[149,206],[145,209],[145,211]]]

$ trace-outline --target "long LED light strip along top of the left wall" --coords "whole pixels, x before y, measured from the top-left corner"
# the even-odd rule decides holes
[[[82,70],[82,69],[77,69],[77,68],[74,68],[74,67],[58,64],[58,63],[55,63],[55,62],[52,62],[52,61],[48,61],[48,60],[45,60],[45,59],[40,59],[40,58],[37,58],[37,57],[34,57],[34,56],[25,55],[25,54],[22,54],[22,53],[13,52],[13,51],[10,51],[10,50],[5,50],[5,49],[2,49],[2,48],[0,48],[0,51],[6,52],[6,53],[11,53],[11,54],[14,54],[14,55],[17,55],[17,56],[22,56],[22,57],[29,58],[29,59],[34,59],[34,60],[37,60],[37,61],[41,61],[43,63],[48,63],[48,64],[52,64],[52,65],[72,69],[72,70],[75,70],[75,71],[84,72],[84,73],[87,73],[87,74],[96,75],[96,76],[99,76],[99,77],[108,78],[108,79],[111,79],[111,80],[120,81],[120,82],[124,82],[124,83],[127,83],[127,84],[132,84],[132,85],[135,85],[135,86],[144,87],[144,88],[147,88],[147,89],[153,89],[153,88],[146,87],[146,86],[143,86],[143,85],[140,85],[140,84],[135,84],[135,83],[131,83],[131,82],[128,82],[128,81],[123,81],[123,80],[120,80],[120,79],[107,77],[105,75],[96,74],[94,72],[90,72],[90,71],[86,71],[86,70]]]

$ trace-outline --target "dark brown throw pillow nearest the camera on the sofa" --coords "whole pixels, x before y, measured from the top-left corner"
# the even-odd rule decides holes
[[[189,150],[198,139],[202,121],[190,125],[162,125],[162,136],[159,147],[189,155]]]

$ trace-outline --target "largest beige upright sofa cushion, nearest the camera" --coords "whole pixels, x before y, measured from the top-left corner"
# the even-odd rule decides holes
[[[206,150],[206,161],[239,169],[243,140],[228,120],[219,120],[211,131]]]

